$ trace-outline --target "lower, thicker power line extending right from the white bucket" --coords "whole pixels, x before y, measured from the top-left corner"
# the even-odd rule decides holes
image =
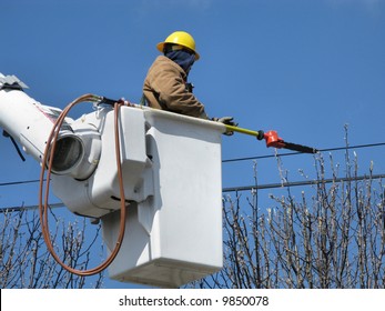
[[[235,191],[246,191],[246,190],[261,190],[261,189],[273,189],[273,188],[286,188],[286,187],[297,187],[297,185],[312,185],[312,184],[322,184],[322,183],[332,183],[332,182],[342,182],[342,181],[359,181],[367,179],[382,179],[385,178],[385,174],[374,174],[374,175],[361,175],[361,177],[343,177],[343,178],[331,178],[322,180],[305,180],[305,181],[291,181],[282,183],[266,183],[266,184],[254,184],[254,185],[241,185],[241,187],[231,187],[223,188],[222,192],[235,192]]]

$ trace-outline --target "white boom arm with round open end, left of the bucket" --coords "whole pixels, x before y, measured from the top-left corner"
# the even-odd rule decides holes
[[[24,88],[27,86],[14,76],[0,73],[0,127],[41,163],[48,137],[61,110],[36,101],[23,92]],[[94,141],[100,138],[91,126],[79,129],[71,123],[73,120],[67,118],[60,129],[52,171],[84,179],[93,172],[93,163],[100,157],[100,143],[98,148]],[[95,149],[93,159],[87,159],[85,148],[91,142]]]

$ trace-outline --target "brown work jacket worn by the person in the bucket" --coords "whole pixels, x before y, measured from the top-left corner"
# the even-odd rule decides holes
[[[159,56],[149,69],[143,94],[151,108],[206,119],[204,106],[186,90],[185,82],[184,70],[169,58]]]

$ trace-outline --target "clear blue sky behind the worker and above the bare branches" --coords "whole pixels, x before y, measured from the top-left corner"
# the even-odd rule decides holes
[[[212,117],[276,130],[318,149],[384,142],[384,0],[0,0],[0,72],[16,74],[38,101],[64,108],[83,93],[138,102],[155,44],[189,31],[201,54],[190,74]],[[89,107],[84,108],[88,112]],[[39,178],[0,140],[0,183]],[[223,138],[223,159],[273,154],[263,142]],[[280,151],[281,152],[281,151]],[[384,173],[384,148],[357,151]],[[295,171],[312,156],[286,160]],[[278,182],[274,161],[260,183]],[[252,162],[223,164],[223,185],[250,184]],[[0,207],[36,204],[37,184],[0,188]]]

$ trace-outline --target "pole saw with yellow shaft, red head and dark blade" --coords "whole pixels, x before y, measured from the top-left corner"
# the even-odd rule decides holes
[[[302,144],[297,144],[297,143],[293,143],[293,142],[287,142],[284,141],[282,138],[278,137],[276,131],[269,131],[269,132],[264,132],[264,131],[252,131],[252,130],[247,130],[247,129],[243,129],[243,128],[239,128],[239,127],[234,127],[234,126],[229,126],[229,124],[224,124],[226,127],[226,131],[227,132],[240,132],[240,133],[244,133],[244,134],[249,134],[249,136],[253,136],[256,137],[257,140],[265,140],[266,141],[266,147],[273,147],[273,148],[283,148],[283,149],[290,149],[290,150],[294,150],[294,151],[298,151],[298,152],[303,152],[303,153],[317,153],[318,150],[312,147],[307,147],[307,146],[302,146]]]

